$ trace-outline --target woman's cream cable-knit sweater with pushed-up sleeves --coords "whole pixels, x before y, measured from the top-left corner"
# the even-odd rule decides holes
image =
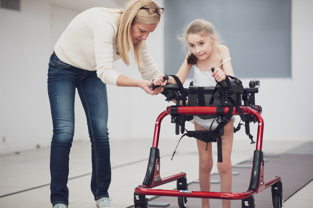
[[[116,54],[116,32],[119,14],[105,12],[100,7],[90,8],[77,15],[65,29],[54,52],[57,57],[74,67],[95,71],[102,82],[117,85],[121,73],[114,70],[113,62],[121,57]],[[148,44],[141,44],[143,66],[138,67],[141,77],[152,81],[160,73],[152,60]]]

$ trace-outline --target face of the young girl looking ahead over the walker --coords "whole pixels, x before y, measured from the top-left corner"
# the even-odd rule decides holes
[[[204,61],[210,56],[216,36],[214,35],[212,39],[213,41],[211,41],[208,36],[200,36],[198,34],[190,34],[187,36],[189,49],[198,60]]]

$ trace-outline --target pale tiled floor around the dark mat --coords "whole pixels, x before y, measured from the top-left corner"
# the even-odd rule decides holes
[[[198,180],[198,153],[194,139],[184,138],[171,161],[177,139],[160,139],[161,177],[179,172],[187,173],[187,182]],[[264,154],[282,153],[303,142],[264,142]],[[133,205],[134,188],[142,184],[145,176],[152,139],[110,140],[112,182],[109,189],[112,205],[125,208]],[[252,158],[254,145],[249,139],[236,140],[233,145],[232,162],[237,164]],[[216,153],[216,152],[215,152]],[[213,157],[216,161],[216,154]],[[52,207],[50,204],[49,147],[0,155],[0,207]],[[69,208],[95,208],[90,191],[91,159],[90,142],[76,141],[70,153]],[[212,173],[216,172],[216,166]],[[310,173],[309,173],[310,174]],[[269,176],[270,177],[270,176]],[[174,189],[176,183],[161,186]],[[285,201],[284,208],[312,207],[313,182]],[[147,196],[150,197],[150,196]]]

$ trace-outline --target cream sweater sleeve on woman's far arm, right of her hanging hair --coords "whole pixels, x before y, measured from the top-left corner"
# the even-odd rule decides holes
[[[151,57],[146,41],[143,41],[141,44],[141,59],[143,65],[142,67],[138,66],[138,71],[141,73],[141,77],[144,80],[152,81],[156,75],[160,74],[160,70]]]

